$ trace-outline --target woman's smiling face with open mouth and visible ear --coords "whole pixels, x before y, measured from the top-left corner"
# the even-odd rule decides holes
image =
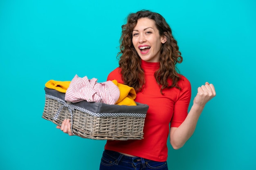
[[[147,62],[159,62],[162,44],[165,36],[160,36],[155,21],[149,18],[140,18],[132,31],[132,44],[139,57]]]

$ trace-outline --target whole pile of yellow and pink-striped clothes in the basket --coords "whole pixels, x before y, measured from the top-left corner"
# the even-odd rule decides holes
[[[136,92],[133,87],[118,83],[116,80],[97,83],[97,78],[88,79],[75,75],[72,81],[49,80],[45,87],[65,93],[69,102],[103,102],[110,105],[136,106]]]

